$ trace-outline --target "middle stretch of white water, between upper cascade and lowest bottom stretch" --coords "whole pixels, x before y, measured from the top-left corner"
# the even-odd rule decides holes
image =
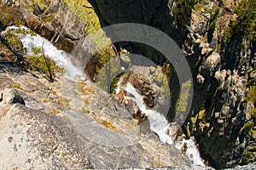
[[[140,110],[148,116],[148,120],[150,122],[150,129],[157,133],[160,140],[167,144],[173,144],[172,137],[169,135],[172,132],[170,123],[167,122],[166,117],[162,116],[160,113],[152,110],[147,110],[143,97],[137,93],[136,89],[131,85],[131,83],[127,82],[125,86],[125,91],[132,94],[134,98],[126,97],[127,99],[133,99],[136,101],[137,106]],[[166,133],[169,132],[169,133]]]

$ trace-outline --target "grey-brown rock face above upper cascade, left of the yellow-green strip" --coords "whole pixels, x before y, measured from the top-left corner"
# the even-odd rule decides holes
[[[26,26],[53,42],[57,48],[71,52],[84,35],[83,23],[63,1],[38,2],[15,1]]]

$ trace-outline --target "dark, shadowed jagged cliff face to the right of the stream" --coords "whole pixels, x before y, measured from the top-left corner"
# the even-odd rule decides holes
[[[248,90],[245,86],[252,79],[250,71],[255,67],[250,62],[255,59],[255,42],[247,43],[242,37],[232,37],[228,45],[221,42],[221,32],[229,25],[230,19],[234,20],[234,1],[204,1],[200,4],[204,8],[199,4],[195,5],[185,28],[178,26],[175,20],[177,3],[178,1],[167,0],[96,0],[96,7],[110,25],[135,22],[154,26],[177,42],[189,61],[195,88],[192,108],[183,125],[183,133],[188,137],[195,135],[200,144],[201,155],[213,167],[235,166],[245,159],[248,148],[250,153],[255,153],[252,151],[252,148],[255,149],[255,132],[244,133],[248,124],[255,129],[255,117],[248,114],[252,111],[251,104],[245,98]],[[212,32],[209,26],[212,13],[209,11],[214,11],[216,6],[220,7],[221,17]],[[242,44],[245,47],[243,54],[238,53]],[[143,44],[128,43],[120,46],[129,49],[131,54],[143,54],[158,64],[166,61]],[[214,50],[218,46],[222,46],[221,52]],[[172,78],[170,86],[177,92],[177,81]],[[175,108],[177,93],[171,94],[174,99],[172,107]],[[251,154],[251,161],[255,161],[254,155]]]

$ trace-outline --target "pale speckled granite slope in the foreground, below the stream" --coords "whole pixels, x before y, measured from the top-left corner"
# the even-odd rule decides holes
[[[180,150],[160,142],[150,129],[142,134],[143,129],[129,111],[87,78],[71,81],[56,77],[50,83],[36,72],[37,78],[19,68],[13,70],[17,72],[0,73],[1,167],[88,169],[192,164]],[[9,102],[12,96],[20,96],[19,102]]]

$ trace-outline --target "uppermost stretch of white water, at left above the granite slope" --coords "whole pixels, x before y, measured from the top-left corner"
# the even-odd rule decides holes
[[[25,26],[10,26],[9,28],[21,28],[29,30]],[[73,78],[77,75],[84,75],[84,71],[81,68],[78,68],[75,65],[73,65],[73,63],[64,51],[55,48],[55,46],[51,42],[46,40],[44,37],[40,37],[39,35],[31,36],[29,34],[20,34],[20,41],[22,42],[24,48],[26,48],[27,54],[29,55],[34,55],[34,53],[32,52],[32,48],[40,48],[41,50],[44,50],[44,54],[48,55],[50,59],[55,60],[56,65],[65,69],[65,77],[73,80]]]

